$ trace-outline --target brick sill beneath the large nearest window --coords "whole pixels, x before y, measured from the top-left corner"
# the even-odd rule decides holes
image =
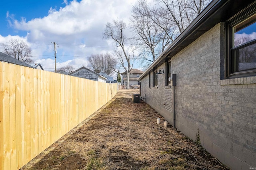
[[[220,80],[220,85],[244,85],[244,84],[255,84],[255,83],[256,83],[256,76]]]

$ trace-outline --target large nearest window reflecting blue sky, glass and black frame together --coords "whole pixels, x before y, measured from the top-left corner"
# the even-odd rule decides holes
[[[250,15],[251,14],[251,15]],[[228,22],[226,77],[256,75],[256,14],[248,12]]]

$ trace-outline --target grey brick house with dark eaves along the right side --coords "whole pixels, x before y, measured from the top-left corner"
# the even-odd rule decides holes
[[[139,78],[146,103],[233,170],[256,166],[255,9],[213,0]]]

